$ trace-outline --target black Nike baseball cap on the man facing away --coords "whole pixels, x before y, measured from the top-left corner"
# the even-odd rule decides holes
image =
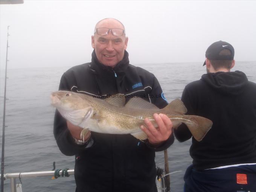
[[[221,52],[222,49],[229,49],[231,52],[231,55],[219,55],[219,52]],[[217,41],[211,44],[205,52],[205,57],[207,59],[212,59],[212,60],[233,60],[234,55],[235,55],[234,47],[225,41]],[[203,66],[205,65],[206,63],[204,61]]]

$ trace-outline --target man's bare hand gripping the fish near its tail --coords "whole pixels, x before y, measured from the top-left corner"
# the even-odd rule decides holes
[[[158,115],[155,113],[153,117],[158,125],[157,128],[155,128],[148,118],[144,119],[147,127],[142,125],[140,128],[148,135],[149,143],[153,146],[159,146],[172,134],[172,122],[165,114],[160,113]]]

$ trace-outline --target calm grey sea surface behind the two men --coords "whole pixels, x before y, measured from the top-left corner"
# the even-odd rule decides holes
[[[166,99],[171,102],[180,98],[186,84],[201,78],[206,72],[202,62],[140,64],[154,73],[160,82]],[[62,73],[69,67],[9,69],[7,82],[5,130],[5,173],[50,171],[53,162],[56,169],[74,168],[75,157],[63,155],[53,137],[55,108],[50,105],[50,93],[58,90]],[[0,73],[0,135],[2,148],[4,70]],[[236,62],[232,71],[240,70],[250,81],[256,82],[256,61]],[[192,162],[189,156],[191,140],[175,143],[168,149],[171,191],[183,191],[183,175]],[[163,152],[157,152],[155,162],[162,163]],[[17,184],[19,180],[17,179]],[[51,177],[22,178],[23,192],[75,192],[74,176],[52,180]],[[10,191],[9,179],[5,191]]]

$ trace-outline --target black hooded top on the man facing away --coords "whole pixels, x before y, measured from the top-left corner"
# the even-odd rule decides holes
[[[243,72],[204,74],[185,87],[181,100],[187,114],[213,122],[202,141],[192,139],[194,168],[256,163],[256,84]],[[186,125],[174,134],[181,142],[192,137]]]

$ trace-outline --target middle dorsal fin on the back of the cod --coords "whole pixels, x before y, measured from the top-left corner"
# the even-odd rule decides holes
[[[127,102],[125,107],[135,108],[135,109],[148,109],[148,110],[158,110],[159,109],[157,106],[155,106],[139,97],[131,98]]]

